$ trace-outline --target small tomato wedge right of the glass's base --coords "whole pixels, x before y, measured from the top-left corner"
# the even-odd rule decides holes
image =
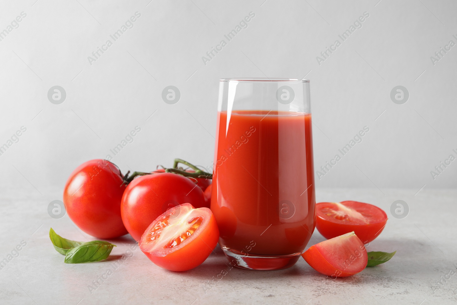
[[[359,273],[368,262],[367,250],[354,232],[319,242],[302,257],[314,270],[332,278]]]

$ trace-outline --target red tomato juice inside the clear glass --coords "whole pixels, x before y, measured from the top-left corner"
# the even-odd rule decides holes
[[[250,255],[302,252],[316,220],[311,114],[218,112],[217,130],[211,210],[220,245]]]

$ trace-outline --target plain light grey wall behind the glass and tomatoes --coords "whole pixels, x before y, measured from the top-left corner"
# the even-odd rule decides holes
[[[0,31],[27,14],[0,41],[0,145],[27,128],[0,155],[2,187],[46,197],[80,163],[113,155],[135,126],[141,132],[112,160],[123,172],[171,166],[175,157],[211,166],[220,78],[305,75],[316,170],[370,128],[316,187],[456,187],[457,161],[435,180],[430,174],[457,157],[457,46],[430,60],[457,43],[455,1],[30,0],[0,8]],[[133,28],[90,65],[137,11]],[[205,65],[202,56],[251,11],[248,27]],[[319,65],[320,52],[364,12],[362,27]],[[52,86],[65,89],[63,103],[49,102]],[[162,100],[166,86],[179,88],[179,102]],[[409,91],[403,105],[390,99],[395,86]],[[61,198],[43,207],[53,199]]]

